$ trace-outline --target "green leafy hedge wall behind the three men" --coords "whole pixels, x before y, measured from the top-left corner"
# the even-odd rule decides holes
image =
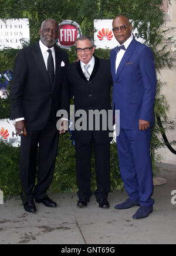
[[[30,44],[39,40],[39,28],[42,21],[46,18],[54,18],[57,22],[63,19],[76,21],[83,34],[93,37],[93,19],[113,19],[119,14],[126,15],[129,19],[136,21],[134,27],[139,31],[146,31],[150,22],[149,34],[145,35],[145,40],[154,52],[155,66],[157,71],[168,66],[171,67],[172,58],[167,50],[167,45],[161,42],[165,32],[161,30],[164,24],[164,11],[161,8],[163,0],[0,0],[0,18],[29,18],[30,23]],[[139,25],[138,21],[142,21]],[[0,71],[6,69],[13,70],[13,63],[18,50],[4,49],[0,51]],[[67,51],[69,61],[76,60],[75,47]],[[95,55],[100,58],[109,58],[110,50],[98,49]],[[172,129],[172,124],[167,122],[167,111],[169,104],[165,96],[161,95],[161,82],[158,81],[157,97],[155,99],[155,113],[163,117],[167,129]],[[10,90],[10,85],[8,87]],[[9,118],[9,98],[0,99],[0,119]],[[153,128],[151,147],[157,149],[163,146],[158,136],[161,129],[157,126]],[[75,168],[75,148],[69,140],[70,134],[60,136],[59,149],[56,159],[55,175],[50,187],[50,191],[76,191],[76,168]],[[0,188],[6,195],[19,193],[19,148],[13,148],[7,143],[0,143]],[[153,152],[153,167],[158,160],[158,155]],[[117,157],[116,143],[111,145],[111,189],[121,189],[119,173],[119,163]],[[96,188],[94,158],[92,157],[92,189]]]

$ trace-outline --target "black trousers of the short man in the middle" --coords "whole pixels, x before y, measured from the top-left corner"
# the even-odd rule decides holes
[[[77,169],[77,195],[79,198],[89,199],[92,196],[90,189],[91,156],[94,147],[96,184],[94,195],[97,199],[107,198],[110,192],[110,142],[99,144],[94,140],[90,143],[75,142],[76,169]]]

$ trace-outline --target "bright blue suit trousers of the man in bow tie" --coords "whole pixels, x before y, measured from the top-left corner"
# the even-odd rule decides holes
[[[151,128],[120,129],[117,136],[120,174],[128,196],[141,206],[151,206],[154,200],[153,173],[150,157]]]

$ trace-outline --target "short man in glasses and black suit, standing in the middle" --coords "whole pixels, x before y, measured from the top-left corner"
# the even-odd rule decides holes
[[[90,118],[91,111],[107,110],[110,107],[111,73],[110,61],[94,57],[95,47],[92,38],[82,36],[77,38],[76,52],[79,61],[68,65],[67,79],[71,98],[74,96],[75,111],[83,110],[86,118],[80,129],[76,126],[75,118],[75,149],[77,169],[77,206],[86,206],[92,191],[90,190],[91,178],[91,153],[94,145],[96,162],[97,189],[94,192],[101,208],[109,208],[107,196],[110,191],[110,140],[109,129],[103,129],[104,123],[100,121],[100,129],[89,129],[96,117]],[[78,112],[77,112],[78,113]],[[97,119],[96,119],[97,120]],[[103,120],[103,118],[100,120]],[[79,122],[78,122],[79,123]],[[105,122],[106,123],[106,122]],[[87,124],[87,125],[86,125]],[[107,124],[107,123],[106,123]]]

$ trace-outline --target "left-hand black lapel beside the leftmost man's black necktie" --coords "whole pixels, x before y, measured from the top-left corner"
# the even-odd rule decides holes
[[[34,51],[32,53],[33,53],[33,57],[35,58],[36,64],[38,65],[40,76],[44,77],[46,82],[50,84],[48,72],[46,70],[46,66],[43,60],[42,52],[40,50],[39,42],[36,42]]]

